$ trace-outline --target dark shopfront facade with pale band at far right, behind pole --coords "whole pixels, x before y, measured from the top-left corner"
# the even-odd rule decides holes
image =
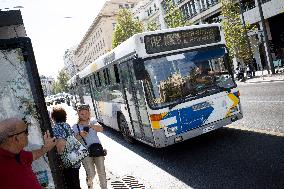
[[[244,19],[247,23],[256,25],[257,29],[249,33],[253,54],[258,62],[258,69],[266,69],[267,48],[272,60],[282,60],[284,66],[284,1],[259,0],[261,2],[264,24],[261,22],[257,0],[243,1]],[[264,43],[263,27],[267,30],[268,45]]]

